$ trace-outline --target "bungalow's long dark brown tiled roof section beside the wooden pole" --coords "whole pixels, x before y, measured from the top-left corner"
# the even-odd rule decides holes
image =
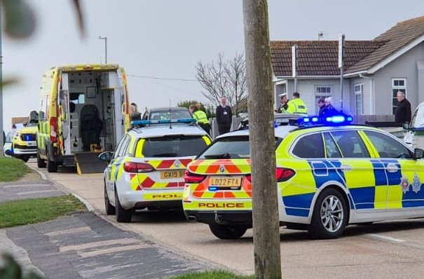
[[[345,69],[362,60],[385,41],[346,41]],[[292,76],[292,46],[297,45],[298,76],[337,76],[338,41],[271,41],[275,76]]]

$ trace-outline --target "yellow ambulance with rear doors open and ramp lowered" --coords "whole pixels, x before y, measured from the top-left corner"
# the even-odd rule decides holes
[[[98,159],[130,128],[128,86],[118,64],[52,67],[43,74],[38,109],[37,165],[48,172],[76,166],[103,172]]]

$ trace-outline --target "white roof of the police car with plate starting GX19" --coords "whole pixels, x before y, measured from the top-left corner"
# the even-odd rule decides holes
[[[207,135],[207,132],[197,125],[151,125],[144,128],[132,128],[129,133],[135,137],[163,137],[169,135]]]

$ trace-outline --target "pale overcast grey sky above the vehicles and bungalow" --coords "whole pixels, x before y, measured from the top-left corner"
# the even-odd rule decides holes
[[[80,2],[84,37],[71,0],[27,0],[36,13],[34,34],[17,41],[2,32],[4,79],[18,79],[3,90],[6,132],[11,117],[37,109],[46,69],[104,62],[99,36],[107,36],[107,62],[124,67],[130,102],[140,111],[184,100],[207,103],[195,81],[196,63],[210,63],[219,53],[230,59],[245,50],[242,0]],[[346,40],[370,40],[421,15],[423,0],[268,0],[271,40],[316,40],[319,32],[326,40],[341,33]]]

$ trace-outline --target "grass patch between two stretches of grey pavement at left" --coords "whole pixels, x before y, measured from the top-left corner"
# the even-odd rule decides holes
[[[0,229],[45,222],[85,211],[85,205],[71,195],[0,203]]]

